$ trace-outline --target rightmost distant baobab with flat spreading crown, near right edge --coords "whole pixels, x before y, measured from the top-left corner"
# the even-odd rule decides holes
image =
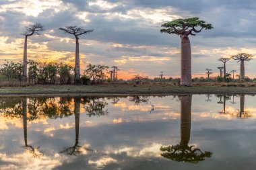
[[[245,80],[245,61],[253,60],[253,55],[247,53],[238,53],[231,57],[232,59],[238,60],[238,62],[240,62],[240,79]]]

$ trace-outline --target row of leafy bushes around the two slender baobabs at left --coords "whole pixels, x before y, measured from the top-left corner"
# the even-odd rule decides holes
[[[41,62],[28,60],[29,84],[71,84],[73,83],[74,67],[65,62]],[[82,83],[85,85],[96,84],[106,79],[105,65],[89,64],[82,75]],[[0,66],[0,77],[6,81],[23,81],[24,65],[22,62],[5,62]]]

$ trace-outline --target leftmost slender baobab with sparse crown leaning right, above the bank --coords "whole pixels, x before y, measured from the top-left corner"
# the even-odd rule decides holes
[[[40,35],[40,33],[44,31],[44,26],[40,23],[30,24],[26,27],[26,30],[22,33],[25,36],[24,42],[24,53],[23,53],[23,73],[22,73],[22,81],[27,81],[27,70],[28,70],[28,37],[33,36],[34,34]]]

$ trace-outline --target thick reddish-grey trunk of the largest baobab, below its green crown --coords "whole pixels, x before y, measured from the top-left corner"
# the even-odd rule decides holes
[[[181,85],[191,86],[191,46],[188,36],[181,35]]]

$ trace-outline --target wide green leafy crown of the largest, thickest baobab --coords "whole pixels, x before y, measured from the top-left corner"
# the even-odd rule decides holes
[[[186,19],[175,19],[172,22],[166,22],[162,24],[164,27],[160,32],[168,34],[177,34],[185,36],[195,36],[195,33],[201,32],[201,30],[211,30],[214,27],[212,24],[205,24],[203,20],[199,20],[199,17],[190,17]]]

